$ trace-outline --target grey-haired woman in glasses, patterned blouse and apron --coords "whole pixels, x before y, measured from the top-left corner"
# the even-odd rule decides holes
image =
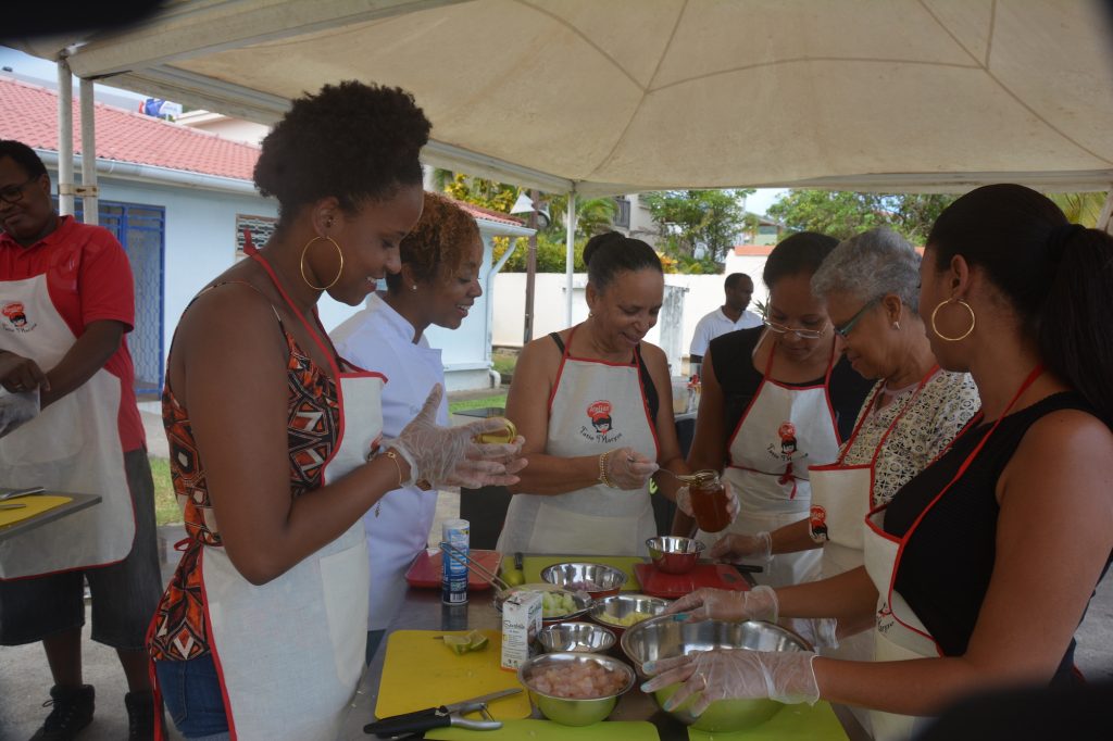
[[[838,350],[861,376],[880,378],[838,460],[810,468],[810,517],[770,533],[775,554],[821,547],[820,579],[863,564],[863,518],[923,471],[981,403],[968,374],[939,370],[935,363],[916,312],[919,261],[900,235],[870,229],[840,243],[811,277]],[[716,555],[733,561],[752,553]],[[869,659],[874,642],[865,631],[873,624],[871,615],[857,625],[840,622],[839,645],[823,646],[825,655]],[[816,635],[833,636],[834,626]]]

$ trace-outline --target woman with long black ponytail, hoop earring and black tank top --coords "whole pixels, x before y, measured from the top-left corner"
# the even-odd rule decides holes
[[[1113,237],[1034,190],[986,186],[940,215],[920,277],[932,349],[971,373],[984,416],[871,514],[865,569],[826,580],[847,587],[828,610],[871,593],[876,661],[712,652],[658,662],[654,684],[867,707],[889,740],[968,694],[1076,681],[1073,634],[1113,555],[1113,337],[1091,330],[1113,312]],[[802,599],[818,586],[781,606],[818,609]]]

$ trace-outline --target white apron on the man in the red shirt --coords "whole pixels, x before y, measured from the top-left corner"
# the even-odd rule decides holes
[[[47,276],[0,281],[0,349],[50,370],[77,342]],[[136,522],[120,444],[120,379],[89,381],[0,439],[0,484],[99,494],[99,504],[0,543],[0,579],[105,566],[131,552]]]

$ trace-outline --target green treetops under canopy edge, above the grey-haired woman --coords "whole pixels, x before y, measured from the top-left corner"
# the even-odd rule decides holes
[[[768,216],[789,231],[818,231],[837,239],[887,226],[922,245],[935,219],[954,199],[943,194],[789,190],[769,207]]]

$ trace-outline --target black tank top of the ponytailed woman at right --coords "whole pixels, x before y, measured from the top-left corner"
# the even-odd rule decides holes
[[[1007,415],[962,477],[924,516],[905,546],[897,570],[896,591],[908,602],[945,655],[958,656],[966,652],[982,601],[989,587],[999,514],[997,480],[1028,427],[1060,409],[1094,414],[1082,395],[1064,392]],[[992,426],[987,423],[967,431],[936,463],[897,492],[885,511],[885,532],[903,536],[939,491],[954,478]],[[1060,492],[1047,494],[1061,495]],[[1106,559],[1105,569],[1109,564],[1110,559]],[[1103,570],[1102,575],[1104,573]],[[1052,684],[1072,683],[1073,664],[1072,639]]]

